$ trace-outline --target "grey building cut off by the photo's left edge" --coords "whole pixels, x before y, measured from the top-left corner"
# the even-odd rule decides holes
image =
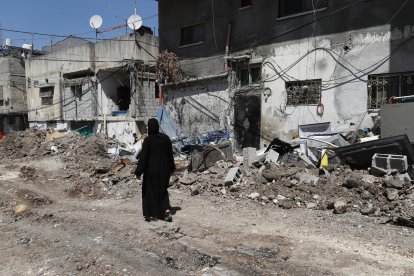
[[[0,139],[28,126],[24,60],[39,52],[23,46],[13,46],[10,39],[0,45]]]

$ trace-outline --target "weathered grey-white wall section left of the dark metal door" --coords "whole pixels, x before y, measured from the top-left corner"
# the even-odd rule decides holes
[[[224,129],[226,116],[233,116],[227,88],[223,78],[166,89],[167,111],[187,134]]]

